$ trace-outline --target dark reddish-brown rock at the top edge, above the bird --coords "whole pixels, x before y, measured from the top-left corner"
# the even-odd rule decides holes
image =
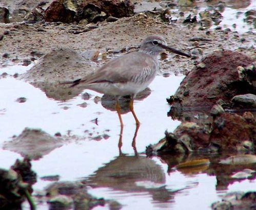
[[[55,0],[45,11],[45,20],[50,22],[73,22],[87,19],[103,21],[107,16],[128,17],[133,15],[134,5],[130,0]]]

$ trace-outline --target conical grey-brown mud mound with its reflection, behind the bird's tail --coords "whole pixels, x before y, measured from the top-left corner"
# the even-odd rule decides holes
[[[69,88],[70,84],[65,85],[61,82],[82,78],[91,73],[91,69],[90,61],[75,51],[62,47],[44,55],[19,79],[40,88],[49,98],[68,100],[80,94],[83,89]]]

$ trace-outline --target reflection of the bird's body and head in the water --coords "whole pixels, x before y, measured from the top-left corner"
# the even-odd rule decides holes
[[[156,202],[169,203],[173,200],[173,192],[165,188],[166,177],[162,167],[138,154],[121,154],[84,181],[92,188],[111,188],[127,193],[147,192]]]

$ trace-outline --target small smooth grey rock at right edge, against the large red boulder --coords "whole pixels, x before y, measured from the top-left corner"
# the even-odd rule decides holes
[[[245,94],[234,96],[231,101],[235,105],[242,105],[243,107],[256,107],[256,95],[253,94]]]

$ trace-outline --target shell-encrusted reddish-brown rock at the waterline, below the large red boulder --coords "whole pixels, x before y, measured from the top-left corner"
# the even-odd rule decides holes
[[[230,113],[214,115],[210,125],[184,122],[173,133],[146,148],[148,156],[192,152],[255,151],[256,121],[251,112],[243,116]]]

